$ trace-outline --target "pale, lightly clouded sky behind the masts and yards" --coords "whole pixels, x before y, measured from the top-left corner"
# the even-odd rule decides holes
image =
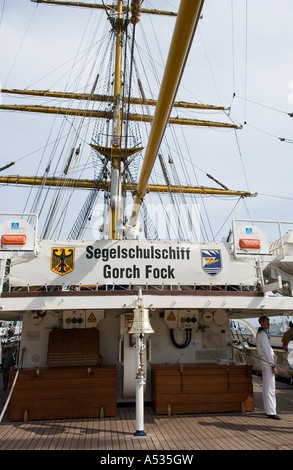
[[[174,11],[179,3],[145,0],[143,7]],[[0,12],[1,87],[54,90],[74,83],[65,73],[68,58],[85,47],[94,24],[91,15],[104,15],[81,8],[37,5],[29,0],[0,0]],[[142,16],[144,29],[138,25],[137,40],[144,35],[149,38],[153,59],[163,71],[175,19]],[[97,38],[104,34],[99,21]],[[210,174],[229,189],[257,193],[239,202],[236,198],[198,199],[200,211],[218,240],[228,235],[234,218],[293,221],[293,118],[289,116],[293,112],[292,23],[293,4],[289,0],[204,3],[177,99],[230,107],[224,117],[213,112],[205,112],[204,117],[225,122],[231,119],[242,128],[227,131],[188,127],[184,134],[189,153],[182,140],[181,156],[192,167],[194,173],[189,176],[193,184],[216,186],[207,178]],[[160,33],[160,39],[155,39],[155,32]],[[148,96],[158,91],[150,75]],[[1,101],[39,104],[36,99],[4,94]],[[189,113],[182,116],[188,117]],[[54,119],[0,111],[0,167],[15,162],[0,173],[2,176],[44,171],[48,158],[42,160],[43,149],[53,140],[49,132]],[[61,118],[57,119],[60,124]],[[172,146],[169,151],[176,156]],[[89,167],[89,178],[92,172]],[[24,188],[0,185],[1,212],[23,211],[26,193]],[[156,217],[160,219],[158,213]],[[275,225],[260,226],[268,230],[271,241],[278,236]],[[284,225],[284,232],[287,227]],[[89,238],[96,233],[92,230]]]

